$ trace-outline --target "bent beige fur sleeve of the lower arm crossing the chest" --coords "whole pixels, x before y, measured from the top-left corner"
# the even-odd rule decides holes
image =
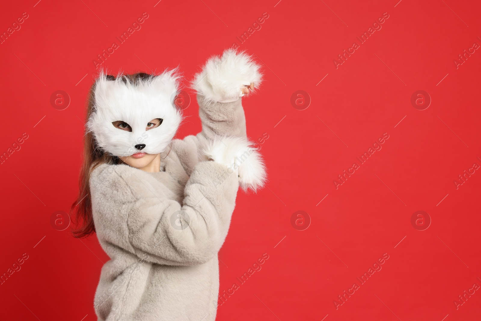
[[[207,262],[227,235],[239,187],[237,175],[224,177],[219,185],[223,172],[222,164],[198,163],[178,202],[150,173],[127,165],[95,168],[90,189],[101,244],[157,264]]]

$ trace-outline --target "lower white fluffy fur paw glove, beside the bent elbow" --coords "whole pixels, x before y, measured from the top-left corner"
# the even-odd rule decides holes
[[[215,137],[201,150],[201,159],[215,161],[227,167],[228,175],[237,175],[243,191],[254,192],[264,186],[266,167],[253,142],[242,137]]]

